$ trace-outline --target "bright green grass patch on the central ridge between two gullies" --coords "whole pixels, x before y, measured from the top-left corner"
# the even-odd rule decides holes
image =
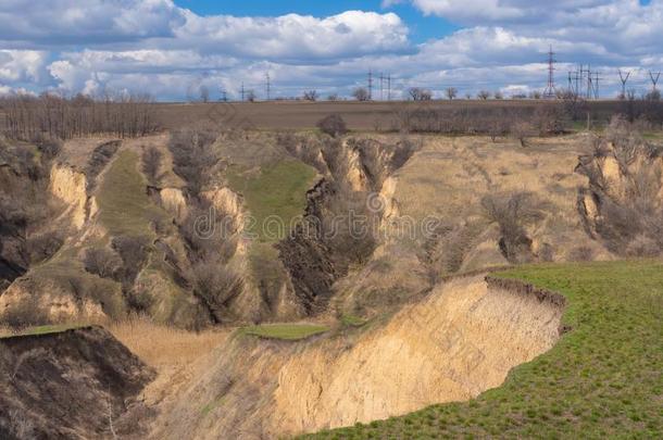
[[[283,239],[290,231],[292,221],[303,214],[307,191],[315,176],[314,168],[291,160],[267,165],[255,175],[239,173],[237,168],[229,171],[230,188],[243,194],[254,219],[247,224],[247,232],[263,242]]]

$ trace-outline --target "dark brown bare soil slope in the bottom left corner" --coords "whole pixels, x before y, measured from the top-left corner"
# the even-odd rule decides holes
[[[0,339],[0,438],[139,438],[153,378],[100,327]]]

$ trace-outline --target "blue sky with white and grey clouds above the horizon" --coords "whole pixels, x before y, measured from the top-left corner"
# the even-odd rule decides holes
[[[643,91],[648,71],[663,71],[663,0],[0,0],[0,93],[173,101],[202,86],[236,98],[243,83],[263,98],[268,73],[275,97],[349,96],[372,70],[396,96],[510,95],[545,87],[551,45],[560,86],[591,63],[603,97],[618,68]]]

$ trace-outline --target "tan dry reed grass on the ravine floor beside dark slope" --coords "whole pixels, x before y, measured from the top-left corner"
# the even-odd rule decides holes
[[[226,340],[228,329],[192,332],[152,323],[147,317],[135,317],[111,324],[113,334],[134,354],[161,369],[193,363]]]

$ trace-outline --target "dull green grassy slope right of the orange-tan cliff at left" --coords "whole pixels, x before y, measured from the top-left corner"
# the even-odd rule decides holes
[[[139,158],[134,151],[121,151],[97,194],[101,223],[112,236],[152,236],[151,222],[166,218],[146,192],[147,181],[138,171]]]

